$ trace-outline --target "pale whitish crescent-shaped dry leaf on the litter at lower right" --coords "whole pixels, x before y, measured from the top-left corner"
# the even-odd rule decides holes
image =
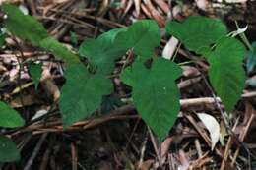
[[[220,139],[220,133],[221,133],[221,128],[217,120],[206,113],[198,113],[197,116],[199,119],[204,123],[206,126],[207,130],[210,133],[210,137],[212,140],[212,150],[215,148],[216,143]]]

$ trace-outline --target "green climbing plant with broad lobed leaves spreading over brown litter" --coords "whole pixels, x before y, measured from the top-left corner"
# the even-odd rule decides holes
[[[182,70],[176,63],[156,57],[154,50],[160,46],[160,28],[155,21],[141,20],[127,28],[107,31],[96,39],[87,39],[75,54],[50,37],[32,16],[24,15],[17,7],[8,4],[2,5],[1,9],[6,14],[4,27],[9,35],[65,61],[66,83],[59,99],[64,128],[100,108],[102,97],[114,90],[108,76],[114,70],[115,61],[129,52],[135,54],[135,61],[121,72],[120,79],[132,87],[132,101],[142,119],[160,140],[166,137],[180,110],[180,91],[175,81],[181,77]],[[166,31],[189,51],[205,57],[210,64],[211,85],[225,110],[232,111],[245,82],[243,44],[228,36],[222,21],[206,17],[189,17],[183,23],[169,22]],[[87,63],[81,62],[83,58]],[[28,67],[37,85],[40,65],[30,64]],[[15,128],[24,124],[17,111],[0,102],[0,127]],[[0,162],[18,160],[19,157],[14,142],[0,135]]]

